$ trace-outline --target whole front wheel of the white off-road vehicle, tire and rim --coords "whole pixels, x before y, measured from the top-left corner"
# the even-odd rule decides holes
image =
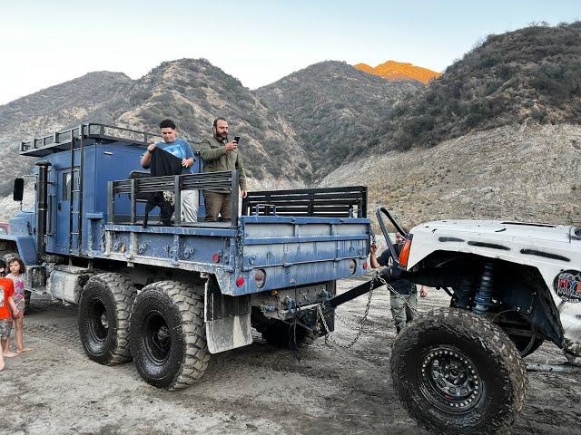
[[[397,337],[391,378],[411,416],[437,433],[498,433],[522,410],[525,364],[496,324],[464,310],[420,316]]]

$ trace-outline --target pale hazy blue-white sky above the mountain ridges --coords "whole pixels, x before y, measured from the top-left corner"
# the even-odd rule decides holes
[[[312,63],[444,71],[487,34],[581,19],[578,0],[0,0],[0,104],[92,71],[204,57],[251,89]]]

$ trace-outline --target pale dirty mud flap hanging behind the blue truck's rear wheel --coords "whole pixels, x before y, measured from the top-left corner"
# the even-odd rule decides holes
[[[216,278],[206,281],[204,297],[206,341],[210,353],[252,343],[251,295],[222,295]]]

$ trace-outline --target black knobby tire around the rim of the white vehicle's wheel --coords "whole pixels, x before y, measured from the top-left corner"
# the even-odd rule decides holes
[[[430,344],[431,347],[437,347],[442,344],[426,343],[428,338],[422,342],[422,336],[428,337],[427,334],[433,331],[448,333],[450,344],[454,343],[455,337],[465,343],[467,340],[476,343],[477,350],[475,352],[490,355],[490,358],[499,368],[499,376],[495,377],[495,381],[500,382],[498,385],[493,385],[492,388],[501,389],[505,399],[497,406],[494,415],[487,415],[487,411],[490,411],[487,408],[483,412],[483,419],[454,420],[450,414],[435,409],[418,392],[419,382],[417,379],[410,379],[409,372],[406,372],[406,366],[413,366],[414,362],[419,362],[417,355],[414,355],[412,351],[414,348],[419,346],[428,348]],[[460,348],[460,350],[462,349]],[[412,361],[411,358],[416,358],[416,360]],[[496,324],[465,310],[441,308],[424,314],[409,324],[399,334],[393,345],[390,366],[394,387],[409,414],[419,422],[419,425],[435,433],[505,433],[512,426],[525,403],[527,392],[526,365],[515,344]],[[439,421],[438,413],[439,416],[443,416]],[[434,417],[435,414],[436,417]]]

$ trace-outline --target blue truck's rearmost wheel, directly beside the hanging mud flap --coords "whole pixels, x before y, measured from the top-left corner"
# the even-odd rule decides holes
[[[192,385],[208,367],[202,297],[189,285],[162,281],[135,298],[131,348],[145,382],[168,390]]]

